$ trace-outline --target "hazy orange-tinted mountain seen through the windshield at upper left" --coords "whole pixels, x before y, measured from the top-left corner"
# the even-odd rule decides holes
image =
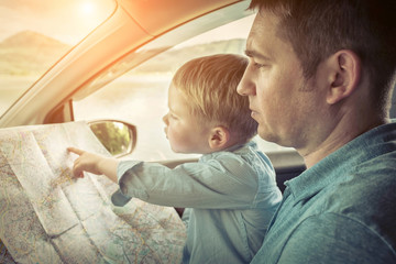
[[[70,45],[33,31],[0,42],[0,75],[43,74]]]

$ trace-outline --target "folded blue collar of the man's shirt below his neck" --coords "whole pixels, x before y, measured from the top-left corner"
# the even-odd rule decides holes
[[[394,141],[391,147],[387,143],[389,141]],[[356,165],[382,153],[395,151],[395,122],[372,129],[328,155],[298,177],[286,182],[287,194],[290,193],[296,202],[312,197],[326,186],[342,180],[342,177],[356,169]]]

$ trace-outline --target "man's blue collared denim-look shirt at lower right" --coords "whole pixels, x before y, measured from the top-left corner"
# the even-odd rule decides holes
[[[252,263],[396,263],[396,123],[286,183]]]

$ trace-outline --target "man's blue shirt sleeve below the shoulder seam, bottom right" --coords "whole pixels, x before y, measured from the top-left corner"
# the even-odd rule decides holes
[[[375,229],[342,213],[327,212],[300,222],[279,263],[394,263],[395,248]]]

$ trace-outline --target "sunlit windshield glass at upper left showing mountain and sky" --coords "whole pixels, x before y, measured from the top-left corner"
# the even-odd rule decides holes
[[[0,0],[0,116],[114,9],[113,0]]]

